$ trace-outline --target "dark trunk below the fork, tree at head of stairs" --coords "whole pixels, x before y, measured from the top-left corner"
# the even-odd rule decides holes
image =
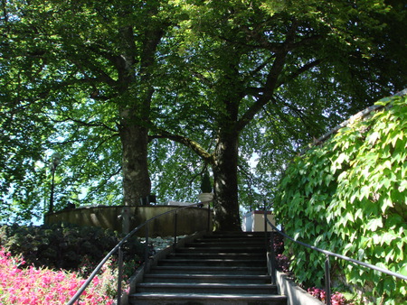
[[[214,152],[214,226],[217,231],[241,231],[238,200],[239,133],[220,131]]]

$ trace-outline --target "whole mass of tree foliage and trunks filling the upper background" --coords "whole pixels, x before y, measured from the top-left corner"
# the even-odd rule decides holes
[[[405,85],[405,16],[397,0],[2,1],[0,222],[41,218],[59,152],[55,210],[151,186],[193,200],[208,169],[215,223],[239,229],[299,144]]]

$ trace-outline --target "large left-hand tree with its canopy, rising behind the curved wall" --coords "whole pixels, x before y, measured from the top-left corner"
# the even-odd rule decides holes
[[[61,152],[62,163],[71,165],[63,182],[75,185],[76,193],[85,179],[90,189],[109,192],[107,185],[121,170],[124,204],[137,205],[151,189],[147,133],[156,48],[169,25],[165,2],[2,4],[4,147],[10,150],[18,139],[29,143],[7,123],[17,116],[22,130],[31,124],[37,133],[53,125],[53,137],[52,129],[35,135],[33,160],[47,162],[39,158],[47,149]],[[32,123],[24,122],[32,116]],[[19,180],[13,178],[3,177],[3,186],[15,188]]]

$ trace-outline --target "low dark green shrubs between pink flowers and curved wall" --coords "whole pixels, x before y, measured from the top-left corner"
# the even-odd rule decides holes
[[[56,270],[87,269],[91,272],[92,266],[99,263],[118,241],[115,232],[92,226],[0,227],[0,245],[14,255],[23,254],[27,265]],[[144,245],[134,239],[126,243],[123,250],[126,260],[137,262],[143,257]]]

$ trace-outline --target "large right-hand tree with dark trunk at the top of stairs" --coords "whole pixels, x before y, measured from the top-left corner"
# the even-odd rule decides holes
[[[250,138],[253,128],[262,126],[260,133],[271,137],[271,144],[257,144],[283,151],[276,147],[280,125],[294,135],[284,143],[292,145],[301,138],[298,133],[309,140],[339,117],[326,116],[344,108],[352,113],[405,84],[399,52],[405,42],[389,40],[396,29],[393,18],[405,14],[400,5],[375,0],[204,1],[185,7],[185,14],[189,17],[181,25],[185,38],[178,42],[181,59],[176,62],[184,60],[185,82],[174,78],[181,84],[175,100],[183,108],[199,105],[199,115],[185,110],[176,116],[169,106],[164,112],[180,122],[178,129],[163,124],[166,130],[156,137],[182,143],[210,164],[215,222],[221,230],[240,229],[242,134]],[[388,60],[387,53],[392,54]],[[197,121],[205,127],[195,136]]]

